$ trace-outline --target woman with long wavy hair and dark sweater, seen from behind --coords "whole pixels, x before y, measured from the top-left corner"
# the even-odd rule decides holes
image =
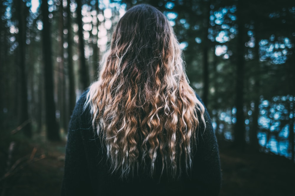
[[[62,195],[218,195],[217,141],[183,64],[160,11],[124,14],[71,117]]]

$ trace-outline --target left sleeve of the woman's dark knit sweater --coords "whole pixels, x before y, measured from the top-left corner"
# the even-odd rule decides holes
[[[85,99],[86,93],[78,100],[69,123],[61,195],[85,195],[91,190],[86,153],[81,137]]]

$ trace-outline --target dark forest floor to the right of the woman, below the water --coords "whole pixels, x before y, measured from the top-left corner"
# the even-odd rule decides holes
[[[220,196],[295,196],[295,164],[278,155],[221,148]]]

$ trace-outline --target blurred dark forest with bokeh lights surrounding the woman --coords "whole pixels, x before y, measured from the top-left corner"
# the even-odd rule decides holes
[[[210,113],[221,195],[295,195],[294,1],[1,0],[1,196],[58,194],[76,100],[140,3],[167,16]]]

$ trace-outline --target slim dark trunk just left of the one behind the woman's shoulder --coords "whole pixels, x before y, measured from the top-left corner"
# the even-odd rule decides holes
[[[71,0],[67,0],[67,29],[68,29],[68,75],[69,75],[69,114],[71,115],[76,105],[76,92],[75,92],[75,78],[74,78],[74,63],[73,63],[73,35],[72,35],[72,22],[71,22]],[[70,118],[68,118],[69,120]]]

